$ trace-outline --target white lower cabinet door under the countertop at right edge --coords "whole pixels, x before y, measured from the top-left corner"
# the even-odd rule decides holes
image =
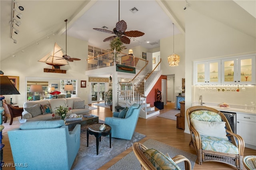
[[[256,146],[256,122],[237,119],[236,133],[242,136],[244,143]]]

